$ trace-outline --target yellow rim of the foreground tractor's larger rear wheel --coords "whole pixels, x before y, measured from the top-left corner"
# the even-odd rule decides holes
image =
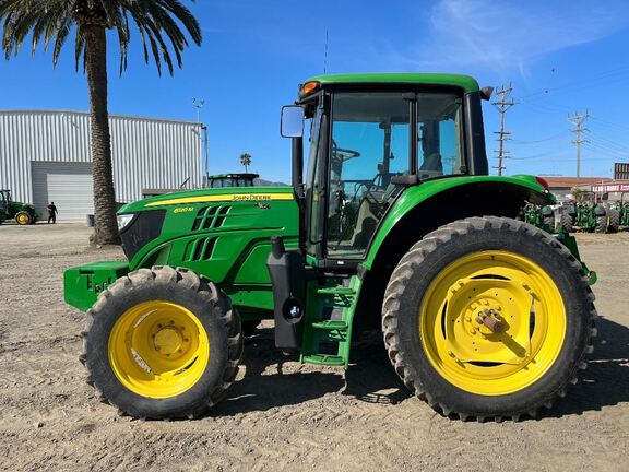
[[[477,394],[520,391],[553,366],[566,308],[550,276],[506,251],[482,251],[447,267],[428,287],[419,334],[432,367]]]

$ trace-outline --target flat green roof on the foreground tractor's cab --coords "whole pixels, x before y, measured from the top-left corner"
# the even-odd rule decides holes
[[[470,75],[450,73],[351,73],[317,75],[306,82],[319,82],[327,84],[367,84],[367,83],[407,83],[428,85],[452,85],[463,88],[465,92],[477,92],[478,82]],[[305,82],[305,83],[306,83]]]

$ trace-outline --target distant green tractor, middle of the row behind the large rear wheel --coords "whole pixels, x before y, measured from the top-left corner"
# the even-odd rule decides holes
[[[581,191],[575,194],[575,201],[563,209],[559,225],[565,233],[606,233],[607,210],[596,202],[594,192]]]

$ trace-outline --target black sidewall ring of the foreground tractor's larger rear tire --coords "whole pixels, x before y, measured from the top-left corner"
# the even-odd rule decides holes
[[[518,392],[491,397],[461,390],[441,377],[428,359],[419,335],[419,307],[431,281],[455,260],[485,250],[521,255],[545,270],[563,298],[567,321],[561,351],[544,376]],[[396,329],[399,347],[412,378],[420,384],[417,390],[425,391],[432,401],[448,410],[479,416],[491,416],[506,411],[511,414],[525,413],[532,405],[538,406],[554,398],[574,377],[589,342],[590,326],[583,317],[583,314],[588,312],[590,300],[582,290],[579,273],[570,270],[566,256],[548,243],[539,237],[531,237],[522,231],[473,231],[439,244],[426,255],[420,266],[415,268],[400,296]]]

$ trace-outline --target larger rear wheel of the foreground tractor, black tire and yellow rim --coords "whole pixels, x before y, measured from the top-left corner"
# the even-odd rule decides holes
[[[384,294],[384,343],[404,384],[444,415],[535,416],[586,367],[593,302],[581,263],[546,232],[473,217],[401,259]]]

